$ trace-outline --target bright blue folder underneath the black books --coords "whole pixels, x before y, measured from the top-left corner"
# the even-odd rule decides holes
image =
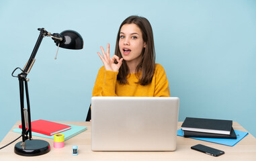
[[[237,139],[223,139],[223,138],[191,138],[191,139],[202,140],[206,142],[213,142],[213,143],[222,144],[225,146],[234,146],[235,144],[240,142],[240,140],[245,138],[245,136],[248,135],[248,133],[244,131],[234,130],[234,132],[237,134]],[[179,129],[177,131],[177,136],[183,136],[182,129]]]

